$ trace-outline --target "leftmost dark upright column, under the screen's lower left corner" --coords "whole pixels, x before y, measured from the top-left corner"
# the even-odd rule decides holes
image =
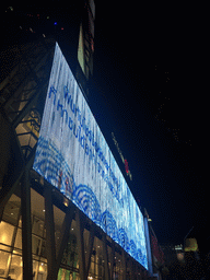
[[[30,170],[25,168],[21,184],[22,207],[22,254],[23,254],[23,280],[33,280],[32,267],[32,223],[31,223],[31,187]]]

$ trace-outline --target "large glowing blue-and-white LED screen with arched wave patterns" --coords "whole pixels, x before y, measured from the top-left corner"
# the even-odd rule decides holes
[[[58,44],[33,168],[148,268],[142,213]]]

